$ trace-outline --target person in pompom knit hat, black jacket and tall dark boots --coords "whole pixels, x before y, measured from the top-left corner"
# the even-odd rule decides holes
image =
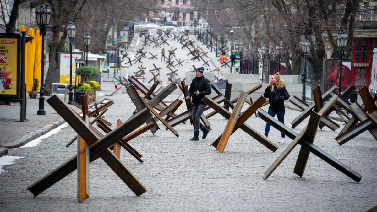
[[[202,102],[202,99],[205,95],[211,94],[211,83],[210,81],[203,76],[204,67],[199,67],[196,69],[196,77],[192,80],[190,85],[189,93],[186,99],[192,97],[192,120],[195,121],[195,131],[194,137],[190,140],[198,141],[199,140],[199,129],[203,131],[203,139],[207,137],[208,132],[210,131],[207,129],[202,123],[200,123],[200,117],[204,112],[205,106]]]

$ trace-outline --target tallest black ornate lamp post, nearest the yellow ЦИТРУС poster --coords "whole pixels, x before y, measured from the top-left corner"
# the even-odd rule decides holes
[[[40,35],[42,35],[41,88],[39,91],[39,109],[37,115],[46,115],[46,111],[44,110],[44,36],[46,36],[47,26],[50,24],[51,16],[52,12],[48,5],[41,5],[40,8],[35,11]]]

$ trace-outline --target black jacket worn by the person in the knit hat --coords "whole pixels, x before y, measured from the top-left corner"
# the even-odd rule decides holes
[[[196,90],[200,92],[198,96],[194,94]],[[204,98],[205,95],[209,95],[209,94],[211,94],[210,81],[207,78],[205,78],[203,75],[201,75],[200,77],[195,77],[192,80],[189,93],[188,93],[189,97],[192,97],[192,103],[204,104],[202,102],[202,98]]]

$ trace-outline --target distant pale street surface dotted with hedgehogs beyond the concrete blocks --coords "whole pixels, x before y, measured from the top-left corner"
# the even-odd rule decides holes
[[[178,34],[178,32],[174,32],[174,33],[176,33],[179,36],[183,35],[183,34]],[[158,35],[154,31],[150,31],[150,36],[155,36],[156,38],[158,37]],[[205,68],[204,75],[207,77],[213,75],[212,73],[211,74],[208,73],[208,71],[209,70],[213,71],[216,68],[216,66],[220,66],[219,62],[217,61],[218,59],[215,57],[215,52],[214,51],[210,52],[210,49],[207,49],[205,45],[202,45],[198,40],[196,40],[196,38],[193,35],[191,35],[190,38],[187,38],[187,37],[185,38],[187,40],[192,39],[192,41],[195,43],[195,46],[199,46],[201,51],[203,51],[204,53],[207,53],[207,57],[203,56],[202,58],[205,61],[208,61],[208,65],[205,65],[204,61],[202,60],[200,61],[191,60],[194,56],[190,54],[190,50],[188,48],[183,49],[182,48],[183,44],[179,43],[179,41],[172,40],[172,38],[169,38],[167,40],[167,44],[162,44],[161,48],[153,48],[154,44],[152,44],[151,46],[143,46],[143,43],[144,43],[143,41],[145,37],[140,38],[139,33],[136,32],[135,39],[133,39],[134,41],[132,44],[132,48],[127,50],[127,52],[129,53],[129,57],[131,58],[131,60],[135,59],[136,57],[139,57],[140,54],[137,54],[137,51],[140,51],[141,49],[143,49],[142,50],[143,52],[147,52],[146,53],[147,58],[141,59],[141,63],[139,62],[136,63],[136,61],[134,61],[132,63],[132,66],[130,67],[127,67],[127,68],[122,67],[120,70],[116,71],[115,76],[126,77],[127,72],[129,75],[134,75],[133,74],[134,72],[139,71],[138,67],[143,66],[146,68],[146,71],[145,71],[146,73],[144,75],[146,79],[144,79],[143,84],[145,86],[152,86],[154,81],[153,80],[150,81],[153,78],[153,75],[150,72],[150,70],[155,69],[155,67],[153,66],[154,64],[156,65],[157,68],[161,68],[159,72],[154,72],[154,74],[155,75],[160,74],[158,76],[158,79],[162,80],[163,86],[167,86],[168,84],[170,84],[170,81],[168,80],[169,76],[167,75],[170,72],[170,70],[169,68],[167,68],[167,65],[168,65],[167,59],[165,59],[165,61],[161,61],[162,48],[165,49],[166,57],[169,57],[169,51],[172,51],[172,49],[175,49],[175,57],[171,60],[173,62],[174,67],[170,67],[170,69],[174,71],[178,70],[176,72],[177,75],[175,76],[175,79],[180,78],[181,80],[183,80],[185,78],[185,72],[193,71],[193,66],[195,66],[196,68],[204,66]],[[182,43],[185,43],[185,42],[186,41]],[[190,49],[193,50],[193,47],[190,46]],[[151,54],[157,55],[156,56],[157,59],[149,59],[151,57]],[[128,61],[128,59],[126,58],[125,61]],[[182,61],[181,65],[179,65],[178,61]],[[215,63],[216,65],[214,65],[211,61],[213,61],[213,63]],[[129,66],[129,64],[124,64],[124,66]],[[221,69],[223,72],[227,71],[225,68],[221,68]],[[216,75],[218,75],[217,72],[216,72]],[[106,81],[111,81],[112,77],[114,77],[114,73],[112,71],[110,71],[109,74],[103,74],[103,79]],[[220,73],[219,77],[222,78],[222,73]],[[191,80],[191,79],[188,79],[188,80]]]

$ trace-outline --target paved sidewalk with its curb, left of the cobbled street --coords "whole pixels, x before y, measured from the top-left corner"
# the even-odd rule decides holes
[[[96,94],[103,93],[104,95],[102,96],[109,96],[115,91],[113,83],[103,82],[101,91],[97,91]],[[99,96],[101,95],[96,98],[97,104],[105,100],[105,97]],[[27,98],[26,118],[23,122],[20,122],[20,104],[0,105],[0,157],[7,154],[8,148],[25,145],[29,141],[65,123],[63,118],[46,102],[48,98],[46,96],[44,101],[46,115],[37,115],[39,108],[38,98]],[[64,101],[64,98],[61,98],[61,100]],[[69,106],[76,112],[80,111],[73,105]],[[94,106],[94,102],[89,105],[89,107],[91,106]]]

